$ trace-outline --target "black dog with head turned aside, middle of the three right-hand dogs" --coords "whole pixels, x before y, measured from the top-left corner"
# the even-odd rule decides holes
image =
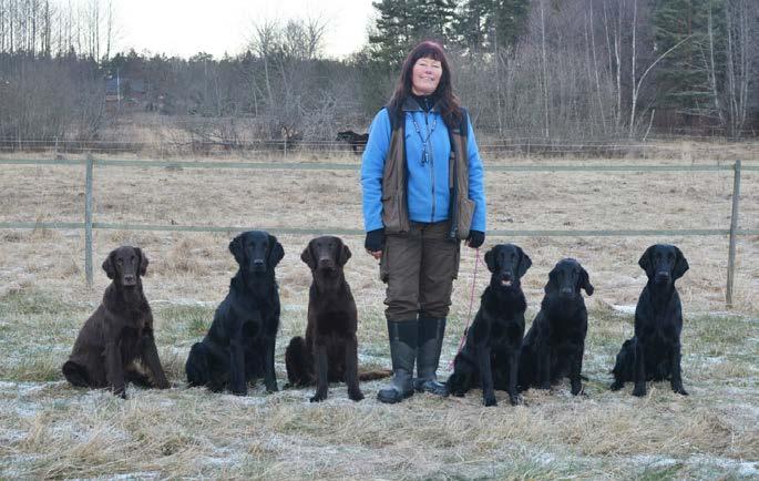
[[[587,310],[581,288],[593,295],[587,272],[575,259],[560,260],[548,275],[541,310],[524,337],[520,360],[522,390],[551,389],[567,376],[573,395],[583,390]]]

